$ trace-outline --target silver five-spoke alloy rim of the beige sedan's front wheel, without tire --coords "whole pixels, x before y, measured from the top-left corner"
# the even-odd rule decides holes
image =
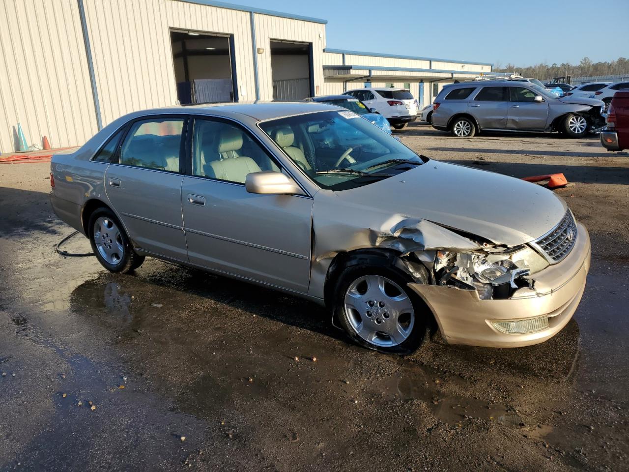
[[[345,313],[356,334],[379,347],[403,343],[415,324],[408,295],[391,279],[377,275],[362,276],[350,284]]]

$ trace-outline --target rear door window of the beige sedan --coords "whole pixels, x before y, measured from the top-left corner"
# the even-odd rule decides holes
[[[136,121],[120,150],[120,164],[179,172],[183,118]]]

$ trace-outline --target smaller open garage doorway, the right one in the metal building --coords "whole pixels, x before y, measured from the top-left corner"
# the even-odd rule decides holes
[[[273,98],[303,100],[315,95],[312,43],[270,41]]]

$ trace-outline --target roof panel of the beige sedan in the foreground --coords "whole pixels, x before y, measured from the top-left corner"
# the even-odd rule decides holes
[[[201,103],[187,106],[169,106],[165,108],[155,108],[132,113],[131,115],[142,116],[150,113],[178,113],[186,115],[215,115],[226,118],[237,118],[238,116],[248,116],[256,121],[270,120],[272,118],[282,118],[283,116],[303,115],[316,111],[338,110],[334,105],[326,103],[312,103],[304,101],[251,101],[239,103]]]

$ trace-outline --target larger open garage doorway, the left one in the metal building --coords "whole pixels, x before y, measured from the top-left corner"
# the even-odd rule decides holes
[[[238,101],[233,37],[170,30],[170,42],[179,103]]]

